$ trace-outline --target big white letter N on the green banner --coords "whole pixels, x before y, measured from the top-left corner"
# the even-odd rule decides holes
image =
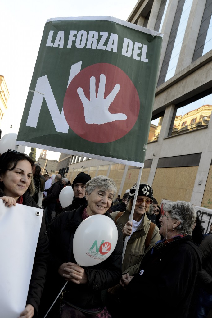
[[[82,64],[82,61],[71,66],[68,85],[70,84],[74,76],[76,76],[76,74],[80,72],[81,64]],[[58,105],[56,103],[54,94],[52,92],[49,80],[46,75],[39,77],[37,80],[26,126],[30,126],[34,128],[37,127],[38,117],[40,114],[40,109],[41,109],[44,98],[49,108],[49,112],[51,114],[51,118],[54,123],[56,131],[67,134],[69,126],[67,121],[65,120],[64,111],[62,109],[60,114]]]

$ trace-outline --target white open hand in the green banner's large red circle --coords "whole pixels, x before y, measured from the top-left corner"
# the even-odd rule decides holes
[[[83,103],[85,122],[87,124],[105,124],[106,122],[125,120],[125,114],[111,114],[108,110],[110,104],[115,99],[120,90],[120,85],[116,84],[112,92],[104,99],[106,77],[104,74],[99,78],[99,89],[96,97],[96,79],[94,76],[90,78],[90,100],[85,97],[81,87],[77,89],[77,93]]]

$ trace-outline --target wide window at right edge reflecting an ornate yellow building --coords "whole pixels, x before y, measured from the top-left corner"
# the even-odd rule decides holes
[[[212,94],[186,104],[183,107],[176,106],[174,123],[169,135],[177,135],[208,126],[211,111]]]

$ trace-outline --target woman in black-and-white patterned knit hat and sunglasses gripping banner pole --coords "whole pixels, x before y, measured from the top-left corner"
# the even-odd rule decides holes
[[[122,273],[138,273],[142,258],[157,241],[161,239],[158,227],[149,219],[147,211],[153,203],[153,189],[148,184],[140,183],[138,196],[133,212],[132,222],[129,221],[137,183],[129,190],[128,205],[124,212],[112,212],[111,216],[122,230],[123,238],[129,237],[122,263]],[[108,289],[106,302],[113,316],[119,305],[123,288],[120,284]]]

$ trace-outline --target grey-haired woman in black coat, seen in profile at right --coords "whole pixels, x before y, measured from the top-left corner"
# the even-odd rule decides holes
[[[121,278],[120,284],[126,289],[121,301],[125,317],[136,317],[135,304],[141,300],[151,308],[151,317],[188,317],[196,277],[202,268],[201,251],[191,237],[196,212],[185,201],[167,203],[163,210],[159,233],[164,239],[147,252],[138,273]],[[150,297],[153,289],[160,292],[154,302]],[[125,306],[126,301],[134,306]],[[122,317],[120,312],[118,315]]]

